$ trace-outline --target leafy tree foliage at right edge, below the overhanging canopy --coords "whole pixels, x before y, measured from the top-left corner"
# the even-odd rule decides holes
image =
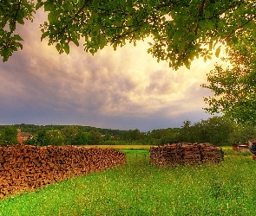
[[[226,59],[230,66],[216,65],[207,74],[203,87],[214,92],[205,98],[209,113],[223,113],[239,124],[256,126],[256,41],[255,32],[247,33],[248,40],[240,40],[229,49]]]

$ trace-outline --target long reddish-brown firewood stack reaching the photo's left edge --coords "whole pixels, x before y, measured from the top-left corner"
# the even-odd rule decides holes
[[[44,187],[75,175],[87,175],[126,163],[116,149],[85,147],[0,147],[0,199],[8,194]]]

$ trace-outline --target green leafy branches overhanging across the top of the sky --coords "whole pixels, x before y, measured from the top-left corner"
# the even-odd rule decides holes
[[[43,8],[48,20],[41,39],[60,54],[69,54],[70,42],[83,41],[85,51],[95,54],[152,37],[148,53],[175,69],[189,68],[196,57],[210,59],[214,48],[218,56],[220,42],[230,46],[244,37],[241,32],[255,31],[255,6],[254,0],[2,0],[0,54],[5,61],[23,48],[16,25]]]

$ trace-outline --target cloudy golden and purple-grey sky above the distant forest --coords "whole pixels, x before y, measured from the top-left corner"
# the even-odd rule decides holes
[[[190,70],[174,71],[157,62],[147,41],[95,55],[82,45],[58,54],[41,42],[39,24],[26,22],[17,32],[23,50],[0,62],[0,124],[77,124],[117,130],[149,131],[181,127],[211,118],[202,108],[212,95],[200,85],[216,59],[194,60]]]

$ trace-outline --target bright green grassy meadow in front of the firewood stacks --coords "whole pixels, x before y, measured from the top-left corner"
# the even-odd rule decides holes
[[[220,165],[157,168],[123,149],[124,167],[2,200],[0,215],[255,215],[256,161],[229,150]]]

